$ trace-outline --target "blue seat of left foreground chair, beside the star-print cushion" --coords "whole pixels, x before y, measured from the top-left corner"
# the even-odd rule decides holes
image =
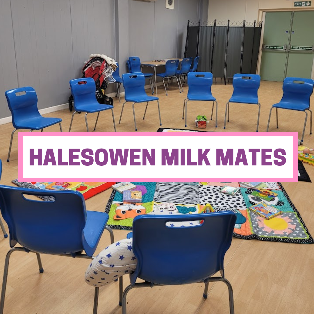
[[[105,229],[109,215],[101,212],[86,211],[86,224],[84,237],[91,248],[97,247],[100,237]],[[85,232],[87,231],[87,232]]]

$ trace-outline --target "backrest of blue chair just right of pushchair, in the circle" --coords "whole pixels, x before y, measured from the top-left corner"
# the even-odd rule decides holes
[[[147,97],[145,92],[145,77],[143,73],[137,72],[123,74],[122,81],[125,91],[125,100],[141,95]]]

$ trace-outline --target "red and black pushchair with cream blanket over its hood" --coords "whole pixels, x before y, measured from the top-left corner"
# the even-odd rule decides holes
[[[112,69],[106,60],[101,57],[103,55],[91,55],[90,59],[82,68],[82,78],[93,78],[96,84],[96,99],[100,104],[113,106],[113,99],[106,96],[108,83],[114,83],[116,80],[112,77]],[[68,99],[69,109],[73,110],[73,96]]]

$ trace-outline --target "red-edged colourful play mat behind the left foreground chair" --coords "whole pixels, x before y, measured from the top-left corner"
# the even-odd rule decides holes
[[[18,187],[48,191],[78,191],[83,194],[84,199],[103,192],[116,182],[19,182],[18,179],[12,181]],[[45,201],[54,200],[51,196],[38,196]]]

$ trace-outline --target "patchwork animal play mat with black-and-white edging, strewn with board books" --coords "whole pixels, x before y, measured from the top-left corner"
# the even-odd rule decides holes
[[[133,218],[148,214],[163,207],[171,214],[173,204],[181,214],[201,213],[206,204],[215,212],[232,210],[237,215],[233,235],[240,239],[258,239],[288,243],[314,243],[299,212],[280,182],[263,182],[259,188],[276,195],[271,201],[264,201],[282,212],[279,216],[264,219],[248,208],[260,203],[261,199],[252,195],[256,189],[247,188],[239,182],[132,182],[137,187],[145,187],[142,203],[123,203],[122,194],[111,193],[106,206],[109,214],[108,225],[113,229],[132,230]],[[220,189],[225,185],[239,187],[235,195],[224,194]],[[253,193],[254,194],[254,193]],[[157,207],[158,204],[159,205]]]

